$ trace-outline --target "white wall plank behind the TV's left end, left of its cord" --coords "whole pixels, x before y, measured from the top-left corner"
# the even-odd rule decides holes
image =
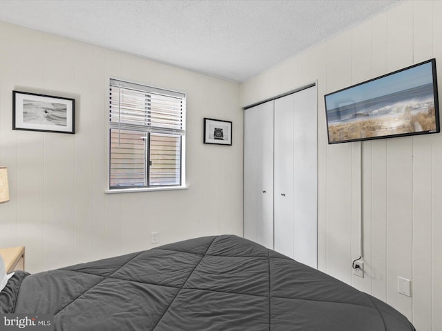
[[[347,30],[327,43],[328,91],[352,85],[352,31]],[[319,116],[323,114],[318,114]],[[338,151],[338,152],[336,152]],[[352,146],[340,143],[327,148],[327,234],[325,270],[334,277],[350,282],[346,268],[351,257]]]

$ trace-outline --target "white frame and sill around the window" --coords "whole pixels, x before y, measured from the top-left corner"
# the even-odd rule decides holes
[[[184,95],[183,100],[183,114],[182,122],[184,127],[184,134],[181,137],[181,148],[180,148],[180,170],[181,170],[181,180],[180,185],[154,185],[154,186],[142,186],[142,187],[122,187],[122,188],[111,188],[111,125],[109,121],[109,91],[111,89],[111,81],[122,81],[128,84],[135,84],[139,86],[144,86],[146,88],[151,88],[154,92],[155,90],[167,91],[173,94]],[[112,193],[129,193],[129,192],[149,192],[149,191],[165,191],[165,190],[186,190],[188,187],[186,185],[186,100],[187,94],[184,92],[178,92],[175,90],[167,88],[159,88],[156,86],[150,86],[146,83],[139,83],[136,81],[131,81],[128,79],[121,79],[117,77],[107,77],[106,79],[106,188],[104,192],[106,194]],[[148,147],[149,150],[149,147]],[[147,160],[145,160],[147,161]]]

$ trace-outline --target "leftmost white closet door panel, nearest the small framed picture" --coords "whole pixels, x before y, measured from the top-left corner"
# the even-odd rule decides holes
[[[244,238],[273,249],[273,101],[244,110]]]

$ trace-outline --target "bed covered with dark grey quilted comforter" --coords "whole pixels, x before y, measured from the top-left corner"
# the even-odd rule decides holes
[[[0,312],[53,314],[55,330],[415,331],[383,301],[229,235],[17,272]]]

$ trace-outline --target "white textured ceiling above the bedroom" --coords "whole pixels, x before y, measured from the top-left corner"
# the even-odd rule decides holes
[[[0,0],[0,20],[244,81],[398,0]]]

